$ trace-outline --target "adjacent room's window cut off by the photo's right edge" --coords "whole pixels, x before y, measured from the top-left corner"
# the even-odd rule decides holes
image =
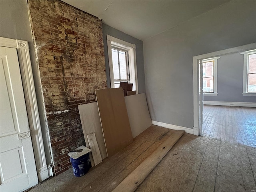
[[[244,54],[243,95],[256,95],[256,50],[242,52]]]

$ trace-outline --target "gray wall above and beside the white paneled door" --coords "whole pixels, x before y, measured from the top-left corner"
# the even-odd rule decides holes
[[[38,101],[38,110],[40,115],[40,124],[44,139],[44,150],[46,163],[51,163],[50,147],[48,144],[48,133],[44,118],[44,104],[41,94],[41,85],[39,80],[38,65],[30,28],[28,16],[28,4],[26,0],[1,0],[0,1],[0,36],[10,39],[19,39],[28,41],[30,48],[30,59],[36,88],[36,98]]]

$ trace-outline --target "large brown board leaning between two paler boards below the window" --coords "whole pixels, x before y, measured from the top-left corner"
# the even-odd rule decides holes
[[[108,157],[133,142],[122,88],[95,90]]]

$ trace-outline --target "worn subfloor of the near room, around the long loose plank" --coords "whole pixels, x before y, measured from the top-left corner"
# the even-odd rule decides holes
[[[72,169],[30,192],[110,192],[173,130],[151,126],[82,177]],[[136,192],[255,192],[256,148],[185,133]]]

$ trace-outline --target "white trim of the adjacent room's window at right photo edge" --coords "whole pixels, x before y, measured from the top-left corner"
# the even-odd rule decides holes
[[[256,53],[256,49],[249,50],[240,53],[241,55],[244,55],[244,77],[243,77],[243,96],[256,96],[256,93],[247,92],[247,72],[248,72],[248,54],[250,53]]]

